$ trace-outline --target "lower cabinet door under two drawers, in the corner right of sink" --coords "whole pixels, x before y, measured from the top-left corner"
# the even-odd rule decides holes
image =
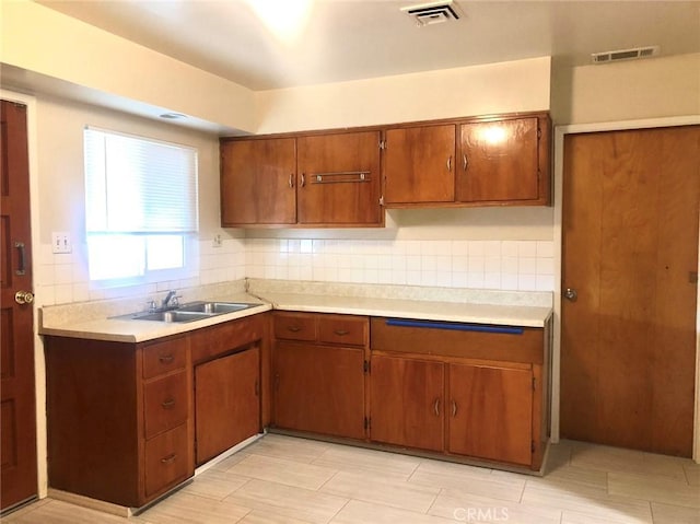
[[[275,426],[364,438],[363,350],[278,342],[272,354]]]

